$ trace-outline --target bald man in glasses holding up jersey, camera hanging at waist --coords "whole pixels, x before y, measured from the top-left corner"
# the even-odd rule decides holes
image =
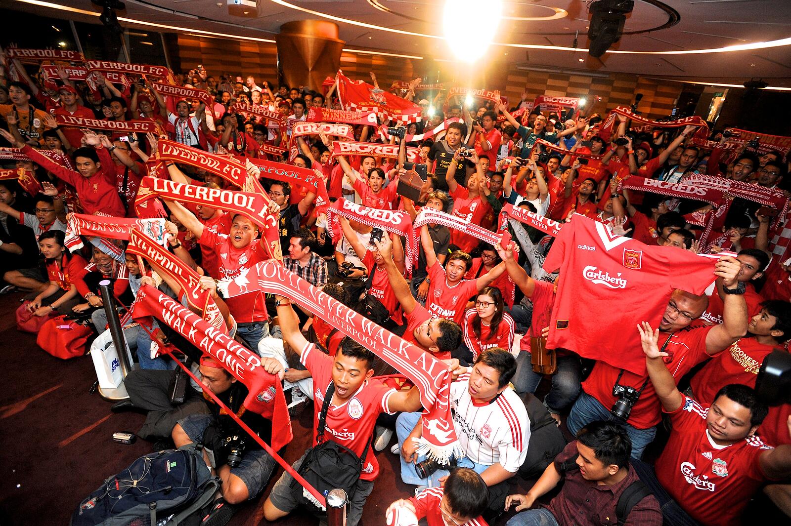
[[[664,364],[676,383],[698,363],[724,351],[747,333],[747,303],[744,284],[738,280],[741,265],[733,257],[721,257],[714,267],[717,284],[725,289],[722,325],[702,326],[698,320],[706,311],[709,299],[689,292],[673,291],[659,324],[660,347],[668,356]],[[681,269],[679,269],[681,270]],[[638,321],[635,320],[635,325]],[[619,327],[616,330],[635,330]],[[615,352],[622,349],[613,349]],[[634,350],[637,351],[637,350]],[[615,385],[628,386],[639,392],[626,421],[611,412],[619,399],[613,394]],[[626,401],[626,396],[621,396]],[[567,425],[572,434],[595,420],[611,420],[622,424],[632,441],[632,457],[640,459],[645,446],[653,441],[661,415],[660,401],[648,374],[634,374],[604,362],[596,362],[589,377],[582,382],[582,393],[571,408]]]

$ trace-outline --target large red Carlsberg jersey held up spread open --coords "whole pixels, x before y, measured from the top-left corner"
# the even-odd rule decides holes
[[[702,294],[714,280],[716,262],[715,256],[673,246],[648,246],[575,215],[562,227],[543,264],[547,272],[559,269],[562,276],[547,346],[644,374],[645,355],[636,325],[648,321],[657,327],[676,288]],[[580,309],[580,305],[628,308]]]

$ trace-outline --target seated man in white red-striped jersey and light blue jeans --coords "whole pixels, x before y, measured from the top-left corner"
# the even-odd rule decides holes
[[[453,426],[459,439],[460,456],[450,465],[439,464],[418,454],[414,438],[420,438],[420,413],[404,412],[395,423],[401,446],[401,479],[407,484],[438,487],[454,467],[471,468],[489,487],[488,509],[502,509],[508,479],[524,462],[530,441],[530,419],[524,403],[509,386],[517,361],[509,351],[486,349],[475,365],[464,370],[450,387]]]

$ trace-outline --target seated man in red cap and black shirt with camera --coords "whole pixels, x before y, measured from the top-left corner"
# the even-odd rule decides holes
[[[268,360],[276,362],[274,359]],[[217,395],[259,438],[267,444],[271,443],[271,422],[244,408],[248,388],[210,356],[204,355],[200,359],[199,370],[204,387]],[[229,505],[251,500],[267,487],[275,461],[214,399],[204,397],[210,414],[189,415],[181,419],[173,428],[171,436],[176,448],[192,442],[204,445],[206,465],[222,482],[221,497],[212,505],[210,517],[230,517],[235,509]],[[205,519],[203,524],[209,524],[208,520]],[[216,520],[221,524],[227,522],[221,522],[220,517]]]

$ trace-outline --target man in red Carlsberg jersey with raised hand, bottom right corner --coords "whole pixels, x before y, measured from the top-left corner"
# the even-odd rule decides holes
[[[735,524],[752,494],[769,480],[791,475],[791,444],[775,449],[755,434],[766,405],[746,385],[725,385],[705,408],[676,388],[664,365],[660,334],[645,321],[638,325],[645,368],[672,432],[656,463],[656,478],[645,464],[635,465],[663,509],[675,502],[707,526]],[[791,419],[787,421],[791,428]]]

